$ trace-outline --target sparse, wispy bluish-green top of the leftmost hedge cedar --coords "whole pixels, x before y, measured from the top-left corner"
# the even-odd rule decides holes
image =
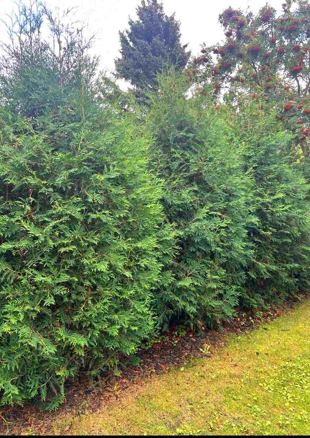
[[[34,121],[70,108],[82,88],[84,96],[90,92],[98,63],[88,55],[92,38],[85,40],[76,24],[64,25],[68,19],[74,19],[70,11],[55,17],[38,1],[17,6],[0,59],[0,99],[12,115]]]

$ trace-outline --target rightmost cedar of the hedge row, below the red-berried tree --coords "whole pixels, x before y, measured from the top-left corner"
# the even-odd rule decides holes
[[[246,304],[255,306],[283,300],[309,286],[309,187],[290,164],[292,134],[283,132],[273,113],[262,116],[255,104],[249,105],[233,125],[247,145],[245,170],[255,182],[257,222],[249,228],[255,253],[244,297]]]

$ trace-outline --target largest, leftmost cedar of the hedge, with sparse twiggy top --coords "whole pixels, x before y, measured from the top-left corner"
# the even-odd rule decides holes
[[[0,403],[38,396],[54,408],[65,379],[115,366],[152,333],[173,234],[160,226],[150,136],[134,116],[102,111],[80,69],[87,58],[75,68],[79,47],[54,68],[50,41],[38,72],[28,51],[9,56],[16,93],[0,88]]]

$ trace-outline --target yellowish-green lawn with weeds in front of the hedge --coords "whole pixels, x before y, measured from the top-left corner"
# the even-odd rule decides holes
[[[310,434],[310,303],[212,358],[131,387],[119,402],[57,418],[54,434]],[[212,352],[212,349],[211,349]]]

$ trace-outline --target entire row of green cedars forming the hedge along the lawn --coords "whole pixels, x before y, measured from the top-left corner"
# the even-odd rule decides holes
[[[0,403],[55,408],[172,322],[305,290],[309,187],[272,108],[171,72],[114,101],[80,37],[51,26],[57,58],[37,23],[1,64]]]

